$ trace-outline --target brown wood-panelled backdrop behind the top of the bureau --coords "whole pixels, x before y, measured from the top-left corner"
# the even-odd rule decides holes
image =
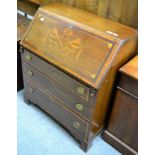
[[[138,0],[40,0],[40,5],[53,2],[61,2],[138,28]]]

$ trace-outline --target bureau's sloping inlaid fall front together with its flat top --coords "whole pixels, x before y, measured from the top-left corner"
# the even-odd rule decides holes
[[[132,28],[56,3],[39,8],[21,45],[98,89],[119,48],[136,37]]]

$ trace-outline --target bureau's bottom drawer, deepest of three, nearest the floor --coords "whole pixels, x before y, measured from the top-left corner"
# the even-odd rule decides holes
[[[49,96],[44,90],[24,79],[24,95],[32,103],[37,104],[49,115],[65,126],[71,133],[85,139],[89,124],[63,106],[58,100]]]

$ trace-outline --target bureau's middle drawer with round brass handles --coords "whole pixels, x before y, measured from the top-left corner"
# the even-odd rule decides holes
[[[49,94],[54,95],[61,103],[70,108],[75,113],[80,114],[86,120],[89,120],[91,113],[91,104],[79,100],[71,95],[67,90],[58,83],[47,78],[45,75],[37,71],[35,68],[23,62],[24,77],[35,82],[41,88],[44,88]]]

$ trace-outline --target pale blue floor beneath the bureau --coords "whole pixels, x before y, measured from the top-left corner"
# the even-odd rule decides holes
[[[34,105],[23,101],[17,93],[18,155],[121,155],[97,136],[87,153],[56,121]]]

